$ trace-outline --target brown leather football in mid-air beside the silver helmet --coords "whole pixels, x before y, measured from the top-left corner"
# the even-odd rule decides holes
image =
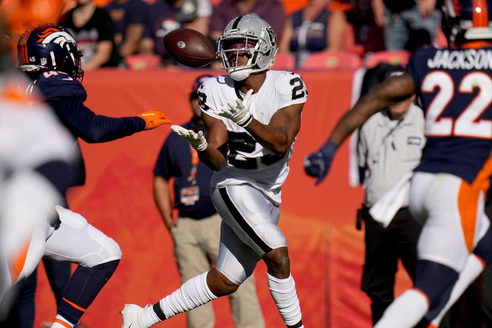
[[[191,29],[177,29],[162,38],[169,56],[188,67],[206,66],[215,59],[215,48],[207,36]]]

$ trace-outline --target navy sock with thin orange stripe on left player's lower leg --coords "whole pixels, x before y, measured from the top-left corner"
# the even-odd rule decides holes
[[[99,291],[111,278],[119,260],[96,265],[92,268],[78,267],[67,285],[65,297],[58,306],[57,314],[76,324],[91,305]]]

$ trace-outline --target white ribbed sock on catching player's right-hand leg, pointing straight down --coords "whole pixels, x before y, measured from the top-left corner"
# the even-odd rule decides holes
[[[268,289],[272,295],[283,322],[294,326],[301,321],[301,308],[297,299],[296,284],[292,275],[289,278],[279,279],[267,273]],[[303,328],[303,325],[296,326]]]

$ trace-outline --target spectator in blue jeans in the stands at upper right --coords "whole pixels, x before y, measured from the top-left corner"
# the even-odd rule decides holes
[[[439,2],[439,3],[438,3]],[[436,38],[438,0],[372,0],[374,20],[384,28],[386,50],[415,50]],[[424,36],[425,35],[425,36]]]

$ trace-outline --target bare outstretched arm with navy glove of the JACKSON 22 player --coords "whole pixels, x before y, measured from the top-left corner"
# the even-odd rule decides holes
[[[304,160],[306,174],[316,177],[316,185],[318,185],[330,170],[332,159],[343,140],[355,129],[361,127],[373,114],[412,96],[415,91],[414,79],[408,72],[386,78],[343,115],[330,137],[318,151],[306,156]]]

